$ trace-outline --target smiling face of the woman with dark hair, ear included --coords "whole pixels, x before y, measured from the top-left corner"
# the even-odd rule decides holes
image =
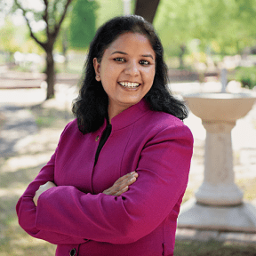
[[[108,114],[121,113],[147,94],[154,81],[155,61],[148,38],[132,32],[110,44],[100,63],[94,58],[96,80],[108,94]]]

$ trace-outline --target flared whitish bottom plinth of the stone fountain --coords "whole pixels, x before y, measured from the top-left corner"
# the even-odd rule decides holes
[[[236,206],[212,206],[188,200],[180,208],[178,228],[256,232],[256,207],[243,202]]]

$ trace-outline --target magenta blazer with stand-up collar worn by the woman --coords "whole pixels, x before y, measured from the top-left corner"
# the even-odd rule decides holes
[[[51,160],[17,204],[21,228],[58,244],[56,255],[172,255],[176,220],[188,184],[193,137],[180,119],[152,111],[145,100],[83,135],[69,123]],[[128,172],[138,180],[122,196],[102,194]],[[46,181],[58,187],[33,197]]]

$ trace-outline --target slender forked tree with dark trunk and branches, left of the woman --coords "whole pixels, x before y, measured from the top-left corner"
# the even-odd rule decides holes
[[[14,0],[15,9],[20,9],[27,22],[30,36],[39,44],[46,53],[46,83],[47,96],[46,100],[54,97],[55,71],[53,60],[53,46],[60,32],[60,26],[68,12],[68,6],[76,0],[44,0],[40,11],[29,8],[28,2]],[[26,6],[27,5],[27,6]],[[44,39],[40,39],[33,30],[33,22],[44,21]]]

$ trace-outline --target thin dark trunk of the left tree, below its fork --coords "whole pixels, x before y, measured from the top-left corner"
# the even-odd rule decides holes
[[[54,98],[55,70],[52,49],[46,51],[46,83],[47,96],[46,100]]]

